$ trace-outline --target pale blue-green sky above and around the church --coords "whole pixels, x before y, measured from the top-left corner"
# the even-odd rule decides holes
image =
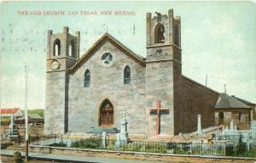
[[[48,30],[55,34],[68,26],[71,34],[80,31],[80,56],[108,32],[146,57],[146,13],[167,14],[170,8],[181,17],[183,75],[204,85],[207,76],[207,87],[224,92],[225,84],[228,94],[255,104],[256,3],[5,2],[1,3],[0,108],[24,108],[27,65],[28,108],[44,109]],[[46,11],[65,15],[45,15]],[[102,11],[133,14],[102,15]]]

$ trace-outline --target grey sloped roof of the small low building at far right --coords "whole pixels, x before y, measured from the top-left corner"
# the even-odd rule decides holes
[[[250,109],[250,107],[227,93],[219,93],[215,109]]]

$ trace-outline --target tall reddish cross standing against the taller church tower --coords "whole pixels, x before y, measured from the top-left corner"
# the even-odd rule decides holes
[[[160,134],[160,115],[166,113],[169,114],[168,109],[161,109],[160,108],[160,99],[157,99],[156,103],[156,109],[150,109],[150,115],[156,115],[156,124],[155,124],[155,134],[159,135]]]

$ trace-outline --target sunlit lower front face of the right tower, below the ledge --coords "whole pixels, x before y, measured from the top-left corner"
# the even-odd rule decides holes
[[[173,62],[154,62],[147,64],[147,131],[155,135],[156,115],[150,115],[150,109],[156,109],[156,101],[160,99],[161,108],[169,110],[160,115],[160,133],[174,134],[173,112]]]

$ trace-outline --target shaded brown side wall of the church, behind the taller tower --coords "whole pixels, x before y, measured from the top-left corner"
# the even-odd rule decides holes
[[[182,84],[183,132],[196,131],[197,115],[201,115],[202,128],[214,126],[218,93],[185,76]]]

